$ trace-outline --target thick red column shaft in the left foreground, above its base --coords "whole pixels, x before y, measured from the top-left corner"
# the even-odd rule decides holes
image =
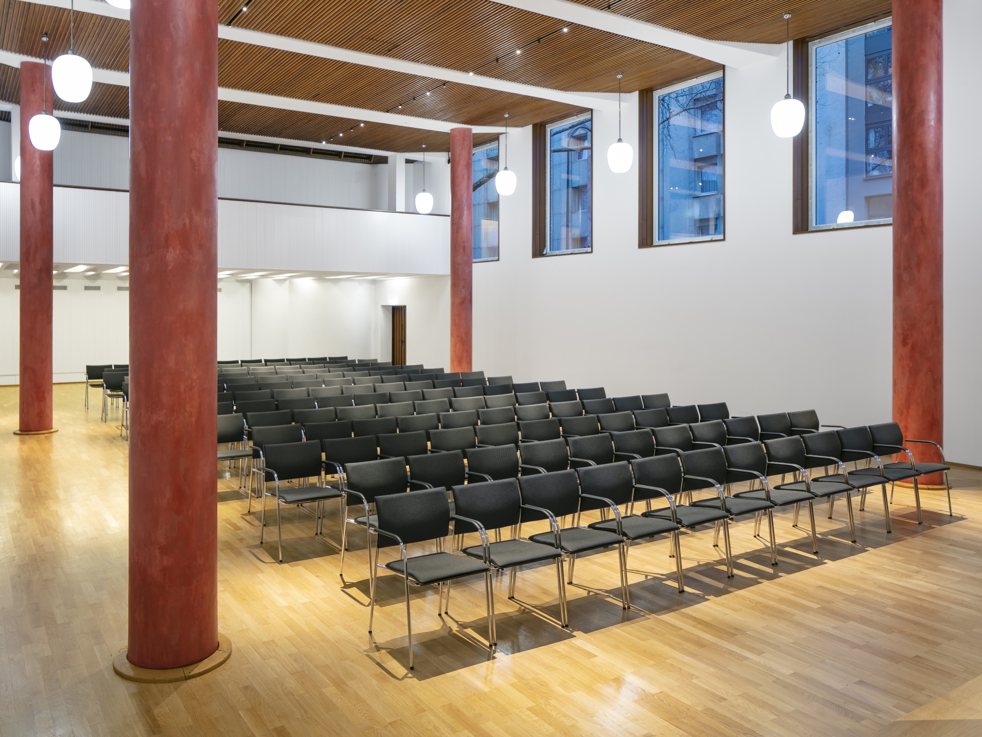
[[[130,12],[130,629],[175,668],[218,647],[218,5]]]

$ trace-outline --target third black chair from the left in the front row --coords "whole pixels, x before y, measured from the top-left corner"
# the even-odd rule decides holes
[[[521,489],[521,523],[549,520],[549,532],[533,535],[532,542],[552,545],[563,552],[564,558],[570,560],[570,574],[567,583],[573,586],[573,568],[576,555],[612,545],[618,546],[618,556],[621,563],[621,606],[630,608],[630,593],[627,590],[627,555],[625,554],[626,540],[617,533],[604,530],[590,530],[585,527],[560,529],[558,518],[576,515],[580,505],[585,500],[587,508],[595,508],[595,503],[608,504],[606,499],[598,500],[593,497],[581,497],[579,482],[574,471],[558,471],[554,474],[535,474],[522,476],[518,480]],[[614,519],[620,521],[621,511],[609,504],[614,512]],[[584,587],[579,587],[584,588]],[[599,592],[591,591],[595,594]]]

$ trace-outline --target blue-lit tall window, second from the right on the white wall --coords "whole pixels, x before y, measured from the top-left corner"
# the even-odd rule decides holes
[[[656,244],[723,238],[723,73],[657,92]]]

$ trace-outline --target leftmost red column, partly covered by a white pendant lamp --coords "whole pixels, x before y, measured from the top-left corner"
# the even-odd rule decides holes
[[[51,70],[21,64],[21,432],[44,432],[51,420],[51,151],[30,143],[27,125],[54,100]]]

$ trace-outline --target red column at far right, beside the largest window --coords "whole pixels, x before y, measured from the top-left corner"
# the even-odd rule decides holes
[[[894,419],[942,443],[942,0],[895,0]],[[930,446],[914,446],[933,460]],[[925,483],[941,483],[940,476]]]

